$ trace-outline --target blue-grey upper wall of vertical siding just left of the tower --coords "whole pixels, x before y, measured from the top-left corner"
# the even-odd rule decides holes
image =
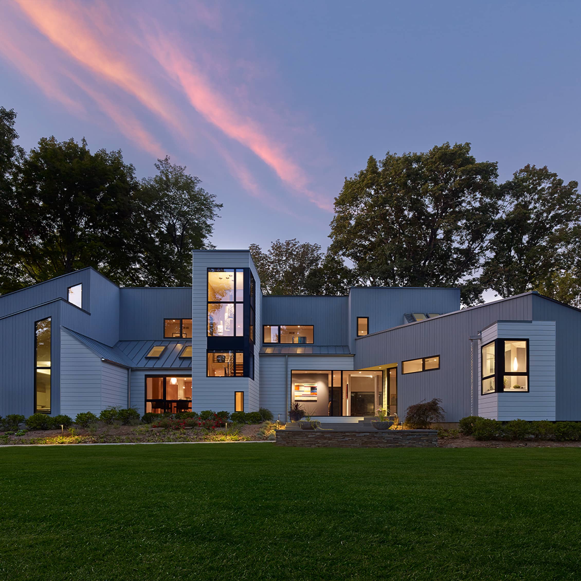
[[[190,288],[120,290],[120,340],[163,339],[163,320],[192,316]]]

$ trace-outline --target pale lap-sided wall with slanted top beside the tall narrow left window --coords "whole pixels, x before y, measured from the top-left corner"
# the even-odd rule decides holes
[[[102,410],[101,357],[66,329],[61,328],[60,335],[60,412],[73,419],[85,411],[99,415]]]

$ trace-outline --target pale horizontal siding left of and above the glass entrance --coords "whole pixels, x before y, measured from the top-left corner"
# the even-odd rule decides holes
[[[291,374],[293,370],[352,370],[353,357],[345,356],[288,356],[288,373],[285,378],[285,356],[263,355],[260,372],[260,407],[268,408],[281,421],[286,419],[290,406]],[[286,392],[288,388],[289,392]]]

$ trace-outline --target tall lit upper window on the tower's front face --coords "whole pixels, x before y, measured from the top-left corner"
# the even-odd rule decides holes
[[[208,269],[208,336],[244,335],[244,271]]]

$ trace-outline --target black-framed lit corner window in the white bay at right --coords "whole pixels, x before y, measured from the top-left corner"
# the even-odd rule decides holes
[[[481,393],[528,392],[529,340],[497,339],[480,349]]]

